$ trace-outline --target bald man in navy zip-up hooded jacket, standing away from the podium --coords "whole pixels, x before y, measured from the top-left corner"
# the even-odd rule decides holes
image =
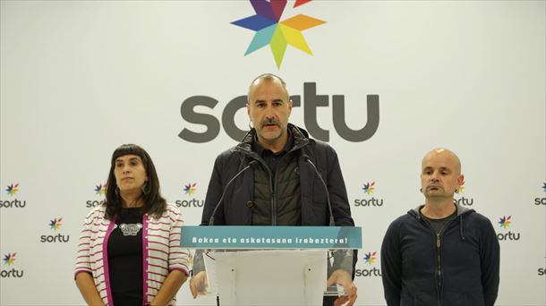
[[[388,306],[492,306],[499,291],[499,241],[487,217],[454,201],[461,162],[448,149],[422,158],[424,204],[388,226],[381,245]]]

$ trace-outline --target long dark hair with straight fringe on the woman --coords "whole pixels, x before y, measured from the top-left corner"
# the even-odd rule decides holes
[[[110,173],[107,181],[107,199],[104,205],[107,207],[105,217],[112,219],[118,215],[124,207],[122,198],[119,195],[117,183],[115,182],[115,159],[124,155],[136,155],[141,157],[142,165],[148,175],[148,183],[146,183],[141,193],[141,199],[144,202],[140,209],[141,215],[149,214],[153,217],[160,217],[166,211],[166,200],[159,193],[159,180],[156,167],[151,161],[148,152],[135,144],[124,144],[114,150],[112,154],[112,162],[110,164]]]

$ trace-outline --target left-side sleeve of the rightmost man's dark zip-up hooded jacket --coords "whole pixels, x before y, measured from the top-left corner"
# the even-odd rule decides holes
[[[389,225],[381,244],[381,278],[388,306],[400,305],[402,291],[402,252],[399,226],[396,222]]]

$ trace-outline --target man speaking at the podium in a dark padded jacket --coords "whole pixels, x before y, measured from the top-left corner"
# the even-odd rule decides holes
[[[218,155],[201,225],[213,219],[214,225],[354,226],[336,151],[289,123],[292,106],[286,83],[277,75],[266,73],[252,81],[246,106],[252,128],[234,148]],[[354,304],[355,260],[355,251],[333,253],[327,285],[342,285],[345,295],[325,296],[324,305]],[[208,281],[200,252],[192,272],[195,298]]]

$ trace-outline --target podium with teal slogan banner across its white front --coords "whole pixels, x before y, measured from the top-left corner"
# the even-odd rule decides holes
[[[183,226],[183,248],[195,249],[220,305],[322,305],[328,271],[352,274],[360,227]],[[196,263],[194,261],[194,268]],[[199,265],[199,264],[198,264]],[[196,273],[196,271],[194,271]]]

